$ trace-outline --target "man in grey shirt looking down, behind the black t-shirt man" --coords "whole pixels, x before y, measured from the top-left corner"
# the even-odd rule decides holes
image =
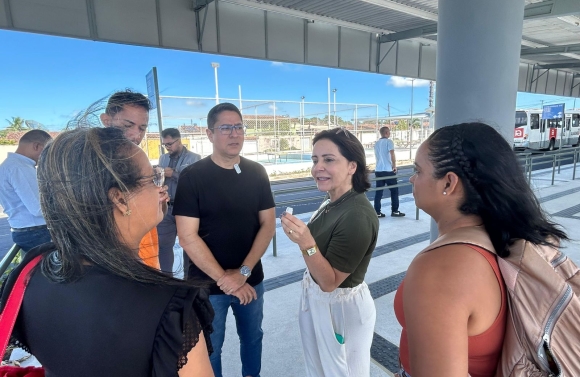
[[[187,147],[181,142],[181,134],[177,128],[164,129],[161,132],[161,138],[167,153],[161,155],[159,166],[163,168],[163,174],[165,175],[169,203],[163,221],[157,225],[157,234],[159,235],[159,265],[161,266],[161,271],[173,273],[173,246],[175,245],[175,237],[177,236],[175,216],[172,214],[175,190],[177,190],[179,174],[187,166],[199,161],[201,156],[187,150]],[[186,255],[184,255],[183,259],[183,269],[187,271],[185,261],[189,261],[189,258],[186,258]]]

